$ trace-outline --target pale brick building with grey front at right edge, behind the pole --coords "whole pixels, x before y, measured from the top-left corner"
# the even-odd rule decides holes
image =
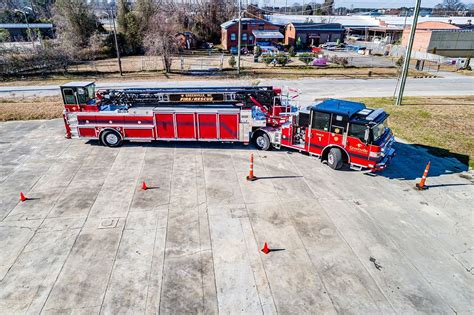
[[[408,45],[410,27],[403,31],[402,45]],[[413,50],[447,57],[474,55],[474,31],[444,22],[421,22],[416,26]]]

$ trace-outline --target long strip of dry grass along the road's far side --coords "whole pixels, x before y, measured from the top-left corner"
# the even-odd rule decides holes
[[[44,85],[44,84],[62,84],[74,80],[100,80],[122,81],[122,80],[194,80],[209,79],[222,80],[237,78],[235,69],[229,67],[230,56],[224,56],[223,70],[215,75],[190,75],[180,74],[181,62],[175,58],[173,63],[174,73],[166,74],[162,71],[163,66],[161,58],[153,56],[130,56],[122,58],[122,69],[124,75],[118,73],[117,60],[115,58],[90,61],[79,65],[69,67],[68,73],[51,73],[46,77],[39,75],[30,75],[22,78],[11,78],[2,81],[2,85]],[[249,78],[300,78],[300,77],[332,77],[332,78],[394,78],[397,74],[396,68],[342,68],[341,66],[331,65],[327,68],[307,67],[298,60],[292,58],[293,62],[285,67],[266,66],[263,62],[253,62],[252,56],[242,56],[241,69],[242,75]],[[206,70],[209,68],[220,68],[221,56],[201,56],[189,55],[184,59],[183,69],[188,70]],[[423,75],[419,71],[410,71],[410,76]]]

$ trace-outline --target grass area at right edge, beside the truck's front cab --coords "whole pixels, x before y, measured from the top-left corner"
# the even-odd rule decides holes
[[[385,108],[399,138],[431,147],[441,156],[456,156],[474,167],[474,96],[406,97],[403,106],[393,105],[389,97],[356,100]]]

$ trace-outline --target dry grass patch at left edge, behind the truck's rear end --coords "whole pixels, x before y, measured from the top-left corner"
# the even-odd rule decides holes
[[[60,97],[0,99],[0,121],[59,118],[64,109]]]

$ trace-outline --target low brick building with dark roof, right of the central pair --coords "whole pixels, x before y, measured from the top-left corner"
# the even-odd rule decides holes
[[[344,39],[339,23],[290,23],[285,27],[285,45],[307,48]],[[299,47],[298,47],[299,46]]]

